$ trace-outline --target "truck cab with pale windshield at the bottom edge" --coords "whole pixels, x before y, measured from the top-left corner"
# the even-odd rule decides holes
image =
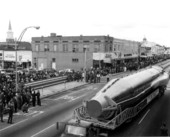
[[[57,129],[61,130],[61,137],[104,137],[99,133],[99,129],[95,128],[91,122],[71,119],[66,123],[58,123]]]

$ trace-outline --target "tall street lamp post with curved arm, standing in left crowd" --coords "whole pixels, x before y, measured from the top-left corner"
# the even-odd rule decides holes
[[[22,37],[24,36],[25,32],[27,31],[27,29],[29,28],[35,28],[35,29],[39,29],[40,27],[39,26],[29,26],[29,27],[26,27],[20,34],[18,40],[15,40],[15,77],[16,77],[16,81],[15,81],[15,89],[16,89],[16,92],[18,92],[18,75],[17,75],[17,46],[18,46],[18,43],[21,42],[22,40]]]

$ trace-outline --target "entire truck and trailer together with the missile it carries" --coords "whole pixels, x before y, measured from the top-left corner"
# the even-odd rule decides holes
[[[159,66],[111,80],[74,110],[74,118],[62,127],[62,136],[109,136],[110,131],[130,121],[154,98],[161,97],[168,81],[169,74]],[[60,124],[57,122],[57,129]]]

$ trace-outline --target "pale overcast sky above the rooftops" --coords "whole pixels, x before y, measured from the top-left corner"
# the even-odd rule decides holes
[[[9,20],[14,38],[28,26],[31,37],[110,35],[170,47],[170,0],[0,0],[0,41],[5,41]]]

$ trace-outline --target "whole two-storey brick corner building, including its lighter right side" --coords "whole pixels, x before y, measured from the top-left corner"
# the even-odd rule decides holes
[[[86,48],[85,48],[86,47]],[[86,52],[85,52],[86,50]],[[81,70],[138,57],[139,42],[108,36],[57,36],[32,38],[33,67],[39,70]]]

